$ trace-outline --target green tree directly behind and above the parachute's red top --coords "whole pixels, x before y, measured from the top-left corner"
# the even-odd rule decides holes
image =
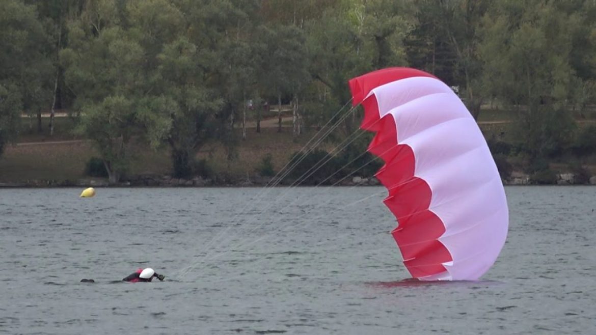
[[[350,100],[346,82],[362,73],[390,66],[404,66],[405,39],[409,20],[406,2],[344,1],[329,9],[321,20],[306,23],[309,71],[316,80],[305,97],[312,114],[339,110]],[[344,123],[346,134],[354,130],[354,119]]]

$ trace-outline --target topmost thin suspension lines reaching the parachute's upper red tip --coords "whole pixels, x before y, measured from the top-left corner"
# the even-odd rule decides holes
[[[333,116],[331,116],[331,118],[330,118],[330,119],[327,121],[327,123],[325,123],[325,125],[324,125],[324,126],[322,126],[322,127],[321,127],[321,129],[319,129],[319,131],[318,131],[318,132],[317,132],[315,135],[313,135],[313,137],[312,137],[311,139],[309,139],[309,141],[308,141],[308,142],[306,142],[306,144],[305,144],[305,145],[304,145],[304,146],[303,146],[303,147],[300,149],[300,152],[303,152],[303,154],[302,154],[302,157],[300,157],[300,159],[299,159],[299,161],[298,161],[298,162],[296,162],[294,165],[292,165],[292,166],[291,166],[291,168],[287,169],[287,170],[286,170],[286,172],[283,174],[283,176],[279,177],[279,176],[280,176],[280,173],[281,173],[281,172],[282,172],[282,171],[283,171],[285,168],[287,168],[287,166],[288,166],[288,165],[290,165],[291,161],[288,161],[288,162],[287,162],[287,163],[286,163],[286,164],[283,166],[283,168],[281,168],[281,169],[279,170],[279,172],[277,172],[277,173],[275,174],[275,176],[274,176],[274,177],[273,177],[273,178],[272,178],[272,179],[271,179],[271,180],[270,180],[270,181],[269,181],[269,182],[268,182],[268,183],[265,185],[265,187],[263,187],[263,190],[262,190],[262,191],[261,191],[259,194],[257,194],[256,201],[259,201],[259,203],[260,203],[260,202],[262,202],[263,198],[265,198],[266,194],[268,194],[268,192],[270,191],[270,189],[271,189],[271,188],[273,188],[273,187],[277,186],[277,185],[278,185],[278,184],[279,184],[279,183],[280,183],[280,182],[281,182],[281,181],[282,181],[282,180],[285,178],[285,176],[287,176],[287,174],[288,174],[289,172],[291,172],[291,170],[292,170],[292,169],[294,169],[294,168],[296,167],[296,165],[297,165],[298,163],[302,162],[302,160],[303,160],[303,159],[306,157],[306,155],[308,155],[308,153],[310,153],[310,152],[313,150],[313,148],[315,148],[317,145],[319,145],[319,144],[320,144],[320,143],[321,143],[321,142],[322,142],[322,141],[323,141],[325,138],[327,138],[327,137],[328,137],[328,135],[329,135],[329,134],[331,134],[331,131],[333,131],[334,129],[336,129],[336,128],[337,128],[337,126],[339,126],[339,124],[340,124],[341,122],[343,122],[343,120],[346,118],[346,116],[343,116],[342,118],[340,118],[340,120],[337,120],[337,121],[335,122],[335,124],[334,124],[333,126],[331,126],[331,129],[330,129],[330,130],[326,130],[326,131],[324,132],[324,134],[323,134],[323,135],[321,135],[321,137],[319,137],[319,138],[318,138],[316,141],[314,141],[314,142],[313,142],[313,145],[311,146],[311,148],[309,148],[308,150],[305,150],[305,148],[307,148],[307,147],[309,146],[309,144],[311,144],[311,142],[312,142],[312,141],[313,141],[313,140],[314,140],[314,139],[315,139],[315,138],[316,138],[316,137],[317,137],[319,134],[321,134],[321,132],[323,132],[323,131],[324,131],[325,127],[327,127],[327,126],[328,126],[328,125],[329,125],[331,122],[333,122],[333,120],[334,120],[334,119],[336,119],[336,117],[337,117],[337,116],[338,116],[340,113],[342,113],[342,111],[344,110],[344,108],[346,108],[346,107],[347,107],[347,106],[348,106],[348,105],[349,105],[349,104],[352,102],[352,100],[353,100],[353,98],[350,98],[350,100],[349,100],[349,101],[347,101],[347,103],[346,103],[346,104],[344,104],[344,105],[342,106],[342,108],[340,108],[340,109],[339,109],[339,110],[338,110],[336,113],[334,113],[334,114],[333,114]],[[352,107],[352,108],[350,108],[350,110],[349,110],[349,111],[346,113],[346,115],[350,115],[350,114],[351,114],[351,113],[352,113],[352,112],[355,110],[355,108],[356,108],[356,107]],[[278,177],[279,177],[279,178],[278,178]],[[276,178],[277,178],[277,179],[276,179]],[[253,204],[253,206],[255,206],[255,207],[256,207],[256,204],[254,203],[254,201],[249,201],[249,202],[250,202],[250,203],[252,203],[252,204]],[[244,208],[243,208],[243,209],[242,209],[242,210],[241,210],[239,213],[237,213],[237,214],[234,216],[234,218],[232,218],[231,222],[232,222],[232,223],[233,223],[233,222],[236,222],[237,218],[238,218],[240,215],[244,214],[244,212],[246,212],[246,210],[248,209],[248,207],[249,207],[249,206],[250,206],[249,204],[247,204],[246,206],[244,206]],[[221,229],[221,231],[219,231],[219,232],[218,232],[218,234],[216,234],[216,235],[215,235],[215,237],[213,237],[213,238],[212,238],[212,239],[211,239],[211,240],[210,240],[208,243],[206,243],[206,244],[204,245],[204,247],[201,249],[201,251],[198,253],[198,255],[200,255],[200,254],[201,254],[201,253],[203,253],[205,250],[207,250],[207,249],[208,249],[210,246],[212,246],[212,244],[213,244],[213,243],[214,243],[216,240],[219,240],[219,238],[221,238],[221,237],[222,237],[222,236],[225,234],[225,232],[227,232],[227,231],[228,231],[230,228],[231,228],[231,225],[228,225],[228,227],[226,227],[226,228],[224,228],[224,229]],[[207,256],[207,255],[205,255],[205,257],[206,257],[206,256]],[[195,256],[195,260],[196,260],[196,258],[198,258],[198,257],[199,257],[199,256]],[[189,268],[189,267],[191,268],[191,267],[192,267],[192,265],[191,265],[191,266],[188,266],[187,268]],[[183,271],[183,270],[184,270],[184,269],[182,269],[181,271]]]

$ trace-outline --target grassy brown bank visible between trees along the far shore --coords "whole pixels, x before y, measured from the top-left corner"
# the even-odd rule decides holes
[[[315,129],[307,129],[305,134],[293,138],[291,122],[286,112],[283,122],[283,132],[277,132],[276,113],[270,113],[268,119],[262,122],[260,134],[254,128],[254,121],[249,123],[247,139],[240,139],[241,129],[235,129],[238,146],[229,155],[221,144],[207,143],[197,154],[197,160],[204,160],[207,168],[216,175],[229,179],[246,179],[255,175],[262,166],[263,159],[271,155],[275,171],[280,170],[290,159],[291,154],[303,148],[306,142],[316,134]],[[589,115],[592,117],[593,115]],[[513,142],[513,120],[515,113],[507,110],[486,109],[480,113],[479,126],[486,138],[499,141]],[[36,119],[23,120],[20,141],[17,145],[8,145],[5,153],[0,157],[0,182],[29,182],[32,180],[76,181],[86,178],[86,163],[92,157],[99,157],[91,141],[76,138],[71,129],[74,120],[70,117],[55,119],[54,135],[49,135],[47,127],[49,119],[42,119],[41,133],[36,130]],[[593,124],[594,119],[578,119],[579,126]],[[335,131],[336,137],[341,138],[342,132]],[[370,137],[368,135],[362,135]],[[324,142],[319,147],[330,150],[336,144]],[[171,163],[167,147],[152,150],[146,145],[134,145],[131,153],[129,176],[136,175],[169,175]],[[231,157],[231,159],[229,159]],[[520,160],[509,157],[514,170],[519,170]],[[594,157],[586,162],[586,167],[592,175],[596,175],[596,161]],[[566,162],[553,160],[550,166],[558,173],[569,171]]]

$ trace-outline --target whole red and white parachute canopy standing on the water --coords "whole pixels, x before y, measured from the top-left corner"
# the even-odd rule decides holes
[[[477,280],[505,243],[505,190],[476,121],[449,86],[429,73],[390,68],[349,82],[384,203],[398,219],[392,235],[420,280]]]

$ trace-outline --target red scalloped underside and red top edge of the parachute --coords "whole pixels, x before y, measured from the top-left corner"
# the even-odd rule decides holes
[[[392,235],[404,265],[414,278],[446,271],[442,263],[452,258],[438,240],[445,232],[445,225],[429,210],[432,191],[426,181],[414,176],[414,151],[408,145],[398,143],[393,116],[387,114],[380,119],[377,98],[374,95],[366,97],[377,86],[417,76],[434,77],[420,70],[395,67],[371,72],[349,82],[354,106],[362,103],[364,107],[361,128],[376,132],[368,151],[385,162],[376,176],[389,190],[389,196],[383,202],[399,221]]]

